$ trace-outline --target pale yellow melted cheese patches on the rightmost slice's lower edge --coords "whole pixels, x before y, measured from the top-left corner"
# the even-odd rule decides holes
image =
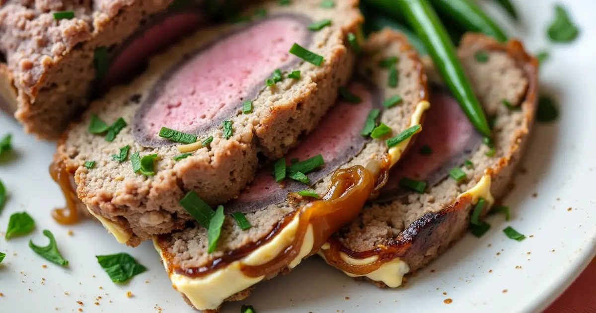
[[[495,203],[495,199],[491,194],[491,174],[485,172],[485,175],[482,176],[479,182],[474,185],[474,187],[468,189],[464,193],[460,194],[458,197],[463,196],[471,196],[472,203],[477,203],[478,199],[482,197],[488,203],[488,207],[491,207],[493,203]],[[322,250],[330,249],[330,244],[325,243],[319,250],[318,255],[322,256],[325,259],[324,253]],[[340,258],[342,261],[346,262],[350,265],[367,265],[372,264],[373,262],[377,261],[378,256],[370,256],[365,259],[355,259],[352,258],[346,253],[340,252]],[[327,259],[325,259],[327,261]],[[350,272],[343,271],[346,275],[350,277],[367,277],[374,281],[381,281],[389,287],[399,287],[402,284],[403,275],[409,272],[409,266],[406,262],[402,261],[399,258],[395,258],[389,262],[384,263],[375,271],[372,271],[367,274],[356,275]]]

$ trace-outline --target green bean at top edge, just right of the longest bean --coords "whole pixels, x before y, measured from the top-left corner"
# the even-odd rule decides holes
[[[485,33],[498,41],[507,41],[505,31],[470,0],[430,0],[440,12],[470,32]]]

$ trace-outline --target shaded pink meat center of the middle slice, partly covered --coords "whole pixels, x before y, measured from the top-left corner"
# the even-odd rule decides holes
[[[368,111],[373,109],[373,95],[360,83],[351,83],[349,86],[352,94],[358,95],[362,102],[359,104],[338,101],[330,113],[325,115],[319,126],[309,134],[300,145],[294,148],[285,156],[287,165],[291,159],[303,161],[310,157],[321,154],[325,165],[337,163],[342,160],[346,162],[346,151],[362,140],[362,128],[368,116]],[[343,163],[342,162],[342,163]],[[339,165],[339,164],[337,164]],[[336,166],[337,166],[336,165]],[[322,171],[331,171],[333,168],[325,166]],[[275,182],[271,175],[271,168],[261,171],[247,191],[240,194],[238,201],[252,202],[268,196],[271,191],[279,190],[280,185]],[[304,186],[307,188],[307,186]]]

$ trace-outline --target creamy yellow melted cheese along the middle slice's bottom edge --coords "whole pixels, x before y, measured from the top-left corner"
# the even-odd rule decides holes
[[[299,219],[299,215],[294,216],[290,224],[284,227],[271,241],[263,244],[263,246],[249,253],[244,258],[234,261],[210,274],[193,278],[170,272],[169,276],[172,286],[178,292],[184,293],[195,308],[200,310],[217,309],[229,296],[247,289],[265,278],[265,276],[248,277],[244,275],[241,268],[243,265],[265,264],[282,253],[296,237],[300,222]],[[153,238],[153,244],[162,256],[163,265],[167,271],[167,260],[164,258],[156,238]],[[302,241],[302,246],[300,247],[300,253],[290,262],[288,267],[294,268],[300,264],[300,261],[312,251],[313,244],[314,233],[312,225],[309,224],[305,238]]]

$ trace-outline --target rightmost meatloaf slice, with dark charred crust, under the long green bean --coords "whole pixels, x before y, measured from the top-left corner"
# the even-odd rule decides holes
[[[478,54],[488,55],[488,60],[475,57]],[[494,121],[493,145],[475,134],[445,89],[434,88],[427,127],[390,173],[377,203],[367,204],[319,252],[347,275],[367,277],[377,286],[399,286],[404,274],[437,258],[462,237],[472,210],[482,217],[507,191],[532,129],[538,63],[518,41],[499,44],[476,34],[462,39],[459,56]],[[427,72],[437,77],[432,66]],[[404,186],[412,187],[408,179],[424,181],[427,187],[407,189]]]

